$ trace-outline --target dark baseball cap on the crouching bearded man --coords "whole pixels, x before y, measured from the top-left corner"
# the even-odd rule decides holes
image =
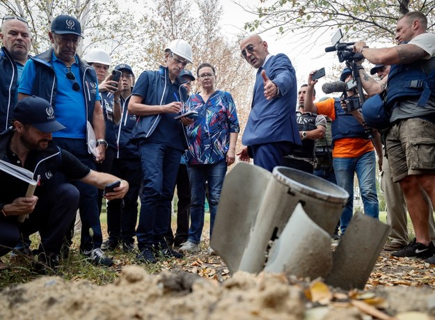
[[[13,119],[49,134],[65,129],[56,121],[53,106],[46,99],[34,95],[19,100],[13,110]]]

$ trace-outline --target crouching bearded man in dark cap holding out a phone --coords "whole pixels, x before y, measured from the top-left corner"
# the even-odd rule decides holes
[[[51,268],[58,264],[61,243],[76,216],[79,191],[69,183],[57,182],[56,172],[70,179],[104,189],[119,180],[113,175],[90,170],[69,152],[52,142],[52,132],[65,129],[54,117],[54,109],[45,99],[26,97],[13,111],[13,127],[0,134],[0,159],[26,168],[39,181],[31,197],[0,203],[0,257],[17,245],[20,237],[40,233],[41,243],[35,255]],[[17,186],[0,183],[1,194]],[[106,199],[124,197],[129,188],[122,180]],[[18,216],[29,214],[24,223]],[[96,262],[97,263],[97,262]]]

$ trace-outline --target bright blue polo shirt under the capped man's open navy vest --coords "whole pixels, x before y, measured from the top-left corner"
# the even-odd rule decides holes
[[[56,100],[55,113],[56,120],[61,122],[66,128],[53,133],[56,138],[86,138],[86,104],[84,97],[84,88],[80,79],[80,69],[77,58],[71,65],[71,72],[76,80],[71,80],[66,77],[68,67],[63,61],[59,60],[55,54],[52,57],[52,67],[56,73]],[[19,83],[18,92],[26,95],[32,94],[33,79],[35,79],[35,63],[32,60],[27,61],[22,74],[22,80]],[[74,82],[79,83],[80,90],[72,89]],[[47,83],[51,86],[52,83]],[[100,95],[97,90],[96,100],[100,101]],[[89,119],[92,121],[92,119]]]

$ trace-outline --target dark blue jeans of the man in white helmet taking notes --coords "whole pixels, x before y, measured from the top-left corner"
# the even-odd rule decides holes
[[[144,250],[165,242],[182,150],[161,143],[142,142],[139,154],[143,188],[136,236],[139,250]]]

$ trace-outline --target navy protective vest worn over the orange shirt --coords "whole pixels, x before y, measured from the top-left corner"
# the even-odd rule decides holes
[[[332,143],[342,138],[365,138],[369,139],[370,135],[365,132],[364,127],[351,113],[345,113],[340,104],[340,99],[335,98],[335,120],[332,122]]]

